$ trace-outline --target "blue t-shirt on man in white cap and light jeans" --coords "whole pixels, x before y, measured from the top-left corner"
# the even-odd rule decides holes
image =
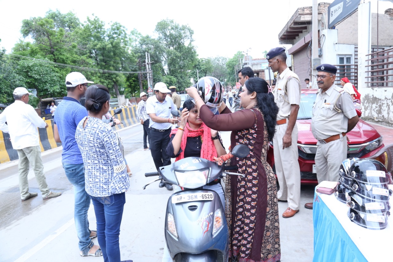
[[[76,127],[87,116],[87,110],[78,100],[64,96],[56,109],[54,123],[57,125],[62,142],[62,162],[64,164],[82,164],[82,154],[75,140]]]

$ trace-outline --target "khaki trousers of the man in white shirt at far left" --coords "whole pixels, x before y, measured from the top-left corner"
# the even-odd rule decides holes
[[[50,190],[44,175],[44,165],[42,164],[40,146],[17,149],[17,152],[19,157],[18,172],[21,199],[25,199],[29,196],[29,164],[33,167],[35,179],[37,180],[42,197],[48,196]]]

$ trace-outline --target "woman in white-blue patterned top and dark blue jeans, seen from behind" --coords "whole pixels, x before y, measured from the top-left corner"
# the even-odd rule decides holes
[[[88,116],[79,122],[75,133],[84,163],[85,189],[94,205],[104,261],[120,261],[120,224],[130,180],[115,131],[102,121],[109,110],[109,90],[93,85],[85,95]]]

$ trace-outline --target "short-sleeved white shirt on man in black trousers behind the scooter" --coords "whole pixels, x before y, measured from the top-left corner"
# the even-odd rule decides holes
[[[146,101],[146,113],[147,114],[156,114],[156,116],[162,118],[172,118],[171,111],[177,110],[176,105],[174,105],[172,98],[169,96],[165,97],[165,100],[160,103],[156,96],[151,96],[147,98]],[[150,121],[149,127],[153,127],[155,129],[169,129],[172,127],[171,123],[156,123],[153,120]]]

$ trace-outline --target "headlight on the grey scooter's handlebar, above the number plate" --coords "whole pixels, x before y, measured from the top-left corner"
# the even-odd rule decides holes
[[[202,170],[186,172],[174,171],[174,174],[179,182],[179,186],[183,186],[185,188],[198,188],[206,185],[206,179],[208,179],[209,172],[210,169],[205,168]]]

